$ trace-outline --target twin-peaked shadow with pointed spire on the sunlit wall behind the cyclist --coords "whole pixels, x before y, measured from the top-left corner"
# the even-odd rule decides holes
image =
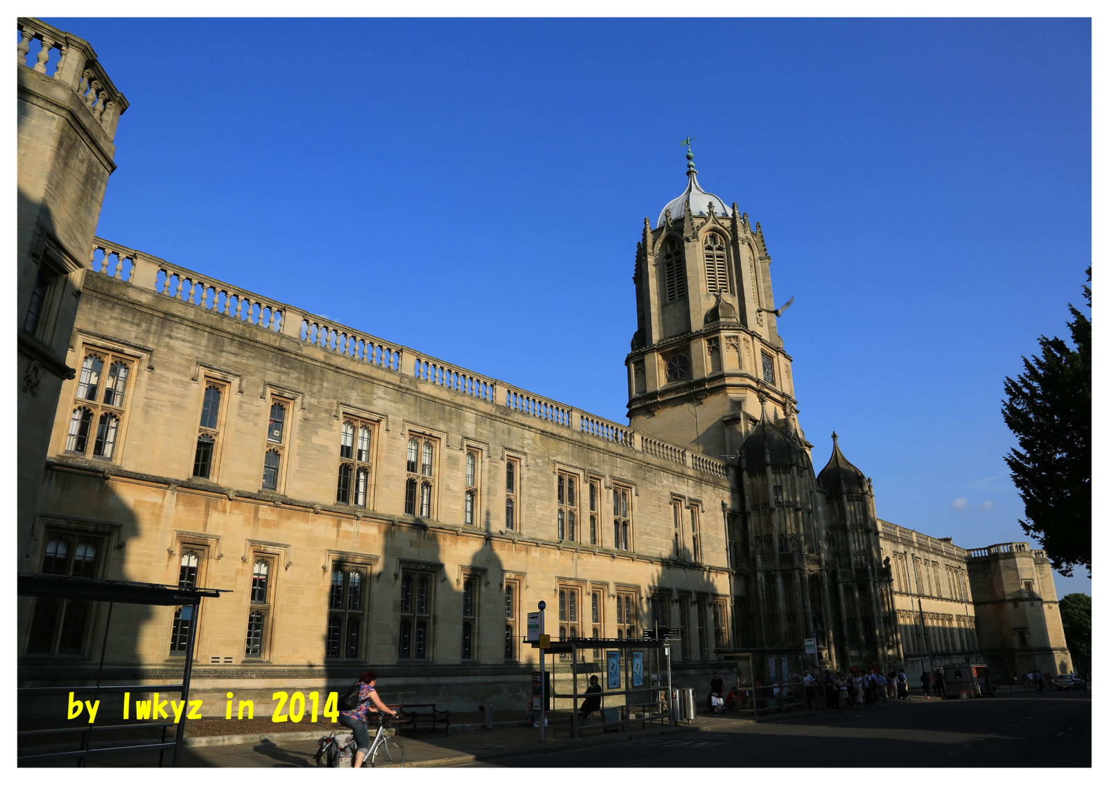
[[[407,517],[376,519],[372,526],[378,533],[364,531],[346,540],[343,550],[354,552],[352,560],[377,553],[379,560],[366,567],[338,557],[325,573],[327,690],[342,694],[372,670],[389,705],[434,703],[469,713],[489,700],[518,702],[503,680],[513,665],[505,662],[505,578],[488,516],[484,526],[459,526],[457,533]],[[475,552],[465,563],[445,560],[445,550],[468,542],[475,543]],[[352,592],[357,583],[364,585],[360,599]],[[527,676],[519,681],[523,694]]]

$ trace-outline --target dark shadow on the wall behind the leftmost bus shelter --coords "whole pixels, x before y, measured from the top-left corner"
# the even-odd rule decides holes
[[[82,462],[88,463],[90,469],[94,468],[93,461]],[[103,470],[103,467],[95,468],[100,468],[101,472]],[[111,485],[103,473],[48,469],[40,497],[42,511],[24,540],[26,547],[20,553],[21,569],[57,575],[136,580],[136,575],[124,569],[124,562],[129,547],[139,536],[139,521]],[[183,654],[152,657],[139,648],[140,640],[152,640],[151,633],[155,630],[163,631],[169,639],[174,612],[173,606],[163,605],[20,597],[17,683],[21,687],[136,684],[142,680],[180,683],[184,675]],[[136,700],[151,697],[150,694],[131,693],[130,720],[135,718]],[[161,697],[179,700],[180,695],[162,693]],[[68,693],[21,697],[17,715],[19,730],[48,726],[88,728],[89,704],[96,711],[91,727],[124,722],[124,697],[121,694],[77,693],[74,700],[82,702],[81,710],[77,716],[69,718],[74,710]],[[138,734],[113,731],[105,734],[98,735],[93,731],[93,744],[98,738],[111,738],[113,743],[125,743],[120,741],[123,738],[151,741],[150,731]],[[77,733],[53,736],[50,742],[51,751],[75,750],[79,748],[80,736]],[[19,754],[34,752],[30,745],[41,743],[43,737],[28,737],[26,744],[21,742]],[[115,765],[156,764],[157,753],[140,752],[128,756],[125,763]],[[59,764],[53,762],[49,765]]]

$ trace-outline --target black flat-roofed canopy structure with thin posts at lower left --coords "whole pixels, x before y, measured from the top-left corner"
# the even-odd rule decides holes
[[[20,572],[18,575],[19,597],[53,598],[53,599],[80,599],[87,601],[98,601],[108,603],[106,623],[103,641],[100,649],[100,662],[96,671],[95,685],[71,684],[57,686],[20,686],[18,696],[22,701],[26,697],[38,697],[47,695],[74,695],[92,696],[102,694],[130,693],[153,693],[153,692],[176,692],[181,694],[181,700],[189,700],[189,682],[193,670],[193,651],[195,649],[196,626],[200,620],[201,600],[204,598],[215,599],[225,590],[218,589],[182,589],[174,585],[163,585],[159,583],[136,583],[134,581],[115,581],[103,578],[75,578],[71,575],[49,575],[42,573]],[[189,636],[184,653],[184,672],[180,683],[173,684],[130,684],[130,685],[101,685],[101,673],[104,667],[104,653],[108,649],[108,640],[111,633],[112,606],[118,603],[129,603],[139,605],[181,605],[191,606],[192,623],[189,625]],[[73,725],[61,725],[55,727],[42,727],[19,732],[20,754],[17,759],[20,765],[47,764],[55,765],[63,761],[75,761],[78,766],[84,766],[90,755],[103,753],[159,753],[159,766],[163,764],[166,750],[173,750],[173,766],[181,761],[181,748],[185,736],[184,717],[177,723],[177,731],[174,741],[165,741],[165,730],[171,727],[172,722],[131,723],[125,725],[100,725],[90,724],[87,727]],[[91,746],[93,732],[100,731],[142,731],[144,728],[161,728],[161,741],[155,743],[134,744],[123,742],[118,746]],[[30,746],[32,740],[37,741],[39,750],[43,748],[41,737],[62,737],[81,734],[79,750],[34,752],[22,754]],[[57,745],[55,745],[57,746]],[[61,744],[65,746],[65,744]]]

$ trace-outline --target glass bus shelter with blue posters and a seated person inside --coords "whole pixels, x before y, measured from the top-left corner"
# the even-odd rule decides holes
[[[550,722],[568,726],[573,738],[583,730],[669,724],[671,643],[631,638],[551,641],[550,649],[539,650],[551,677]]]

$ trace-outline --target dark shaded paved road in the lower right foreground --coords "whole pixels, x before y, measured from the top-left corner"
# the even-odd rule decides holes
[[[1089,692],[892,701],[476,766],[1090,766]]]

